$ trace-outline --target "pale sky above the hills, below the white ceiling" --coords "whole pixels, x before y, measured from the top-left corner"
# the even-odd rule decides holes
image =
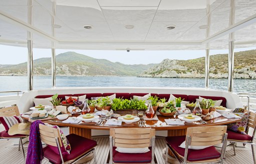
[[[243,51],[256,49],[256,47],[237,48],[234,51]],[[187,60],[205,56],[205,50],[75,50],[75,49],[56,49],[56,55],[59,53],[74,51],[94,58],[104,58],[112,62],[121,62],[124,64],[148,64],[160,63],[163,59]],[[210,55],[228,53],[227,49],[210,50]],[[0,64],[18,64],[27,61],[27,48],[0,45]],[[33,48],[33,59],[41,57],[51,57],[51,49]]]

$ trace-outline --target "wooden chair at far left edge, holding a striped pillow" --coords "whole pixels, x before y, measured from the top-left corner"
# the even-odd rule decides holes
[[[6,116],[18,116],[19,111],[17,106],[10,106],[10,107],[3,107],[0,108],[0,116],[1,117],[6,117]],[[27,137],[28,135],[25,134],[14,134],[14,135],[9,135],[8,132],[5,130],[0,132],[0,140],[9,140],[9,139],[19,139],[18,142],[18,150],[20,150],[20,145],[21,145],[21,150],[22,150],[22,155],[23,159],[25,161],[25,152],[23,148],[23,143],[22,139]]]

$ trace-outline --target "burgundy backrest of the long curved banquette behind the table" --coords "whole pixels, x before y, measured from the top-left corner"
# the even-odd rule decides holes
[[[116,98],[123,98],[123,99],[130,99],[133,97],[133,95],[137,96],[144,96],[148,93],[128,93],[128,92],[109,92],[109,93],[77,93],[77,94],[59,94],[58,98],[61,98],[61,100],[65,99],[65,96],[80,96],[86,94],[86,98],[90,99],[91,97],[100,97],[100,96],[109,96],[115,93]],[[169,99],[170,94],[157,94],[157,93],[150,93],[152,96],[158,96],[159,98],[165,98],[166,100]],[[175,97],[181,97],[181,99],[184,98],[184,101],[189,101],[189,102],[195,102],[196,98],[199,96],[203,98],[210,98],[212,100],[222,100],[221,104],[222,106],[226,107],[226,98],[221,97],[221,96],[205,96],[205,95],[186,95],[186,94],[172,94]],[[47,98],[52,95],[37,95],[35,98]]]

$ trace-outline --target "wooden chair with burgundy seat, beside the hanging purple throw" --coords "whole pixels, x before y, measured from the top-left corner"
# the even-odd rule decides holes
[[[62,154],[61,148],[62,141],[57,128],[39,124],[39,133],[41,140],[47,145],[43,147],[43,156],[46,157],[51,163],[75,163],[90,152],[94,154],[94,164],[96,164],[96,154],[94,147],[97,142],[76,134],[66,135],[69,141],[71,150],[70,154]],[[48,145],[55,146],[59,153],[56,153]]]

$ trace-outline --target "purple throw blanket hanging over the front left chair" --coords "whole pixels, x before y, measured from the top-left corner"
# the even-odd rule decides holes
[[[26,164],[39,164],[43,159],[42,143],[39,133],[40,120],[32,122],[29,133],[29,144],[27,147]]]

